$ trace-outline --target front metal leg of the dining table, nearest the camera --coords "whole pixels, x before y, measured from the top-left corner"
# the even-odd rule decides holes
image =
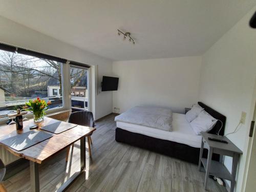
[[[39,192],[39,168],[38,163],[30,161],[30,182],[31,191]]]

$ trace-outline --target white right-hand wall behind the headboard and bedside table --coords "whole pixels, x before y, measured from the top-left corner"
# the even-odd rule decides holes
[[[226,115],[225,133],[232,132],[247,113],[246,123],[228,138],[242,151],[237,190],[241,191],[247,152],[248,129],[256,77],[256,30],[248,22],[256,7],[233,26],[202,57],[199,100]],[[231,170],[231,158],[225,165]]]

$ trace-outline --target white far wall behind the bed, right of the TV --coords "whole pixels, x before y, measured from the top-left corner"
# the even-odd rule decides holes
[[[120,113],[136,105],[156,105],[184,113],[198,101],[201,57],[113,62],[119,77],[113,108]]]

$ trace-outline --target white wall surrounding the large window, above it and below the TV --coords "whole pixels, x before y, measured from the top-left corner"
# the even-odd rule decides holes
[[[98,74],[92,74],[95,79],[92,83],[97,83],[102,78],[102,74],[112,73],[112,61],[87,51],[65,44],[57,39],[34,31],[25,26],[19,25],[12,20],[0,16],[0,42],[5,44],[45,53],[69,60],[74,60],[88,65],[98,65]],[[98,78],[98,79],[97,79]],[[97,87],[97,85],[92,85]],[[95,90],[95,89],[92,89]],[[112,93],[92,94],[95,99],[95,119],[112,112]]]

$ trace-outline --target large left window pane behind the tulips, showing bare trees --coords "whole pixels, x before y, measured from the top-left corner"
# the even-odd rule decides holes
[[[37,97],[62,106],[62,63],[0,50],[0,117]],[[58,91],[59,90],[59,91]]]

